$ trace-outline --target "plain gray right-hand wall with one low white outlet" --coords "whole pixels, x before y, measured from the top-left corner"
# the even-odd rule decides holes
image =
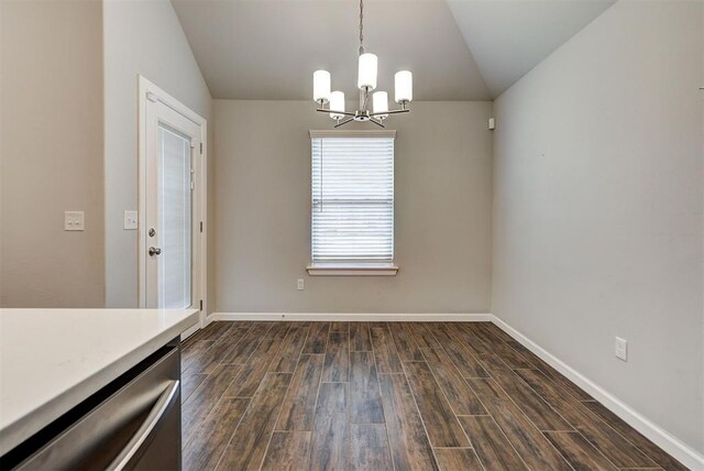
[[[700,452],[702,13],[619,1],[496,100],[493,259],[496,316]]]

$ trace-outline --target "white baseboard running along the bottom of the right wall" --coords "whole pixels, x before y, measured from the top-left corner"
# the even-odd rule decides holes
[[[659,427],[658,425],[644,417],[627,404],[618,399],[616,396],[602,388],[588,377],[579,373],[576,370],[569,366],[566,363],[559,360],[552,353],[548,352],[528,337],[520,333],[518,330],[508,326],[506,322],[492,316],[492,321],[506,333],[518,340],[524,347],[534,352],[540,359],[546,361],[550,366],[558,370],[564,376],[566,376],[574,384],[592,395],[596,401],[602,403],[606,408],[620,417],[624,421],[630,425],[632,428],[641,432],[653,443],[662,448],[664,451],[680,460],[683,464],[692,470],[704,470],[704,457],[684,445],[673,435]]]

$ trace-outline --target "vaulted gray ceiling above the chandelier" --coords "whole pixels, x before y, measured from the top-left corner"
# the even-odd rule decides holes
[[[378,87],[414,73],[417,100],[491,100],[615,0],[365,0]],[[172,0],[213,98],[310,99],[312,73],[355,97],[358,0]]]

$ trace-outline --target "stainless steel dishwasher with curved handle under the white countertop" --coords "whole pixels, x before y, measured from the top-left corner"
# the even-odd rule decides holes
[[[180,470],[178,339],[0,458],[0,468]]]

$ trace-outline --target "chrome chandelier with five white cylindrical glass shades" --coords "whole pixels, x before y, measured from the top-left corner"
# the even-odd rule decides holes
[[[388,109],[388,95],[376,89],[376,55],[364,52],[364,0],[360,0],[360,59],[356,86],[360,89],[360,108],[352,111],[344,109],[344,92],[330,91],[330,73],[316,70],[312,74],[312,99],[319,105],[317,111],[330,113],[336,120],[336,128],[352,121],[371,121],[384,128],[384,121],[389,114],[407,113],[408,103],[413,100],[413,75],[408,70],[397,72],[395,75],[395,101],[399,109]],[[372,95],[372,110],[370,111],[370,94]],[[326,108],[326,103],[328,108]]]

